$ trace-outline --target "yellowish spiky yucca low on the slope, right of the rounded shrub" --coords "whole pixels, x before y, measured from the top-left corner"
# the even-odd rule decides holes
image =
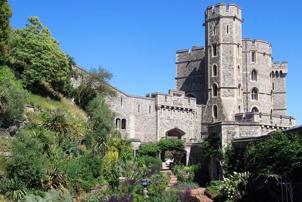
[[[69,188],[67,175],[62,173],[55,166],[48,168],[47,174],[48,183],[46,187],[50,189],[57,189],[64,194],[66,192],[66,188]]]

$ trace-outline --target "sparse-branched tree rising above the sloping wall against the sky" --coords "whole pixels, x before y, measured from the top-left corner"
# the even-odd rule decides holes
[[[112,73],[99,66],[98,69],[91,68],[90,72],[80,72],[81,84],[72,92],[75,103],[85,109],[87,103],[96,95],[114,96],[116,92],[108,85],[112,78]],[[83,104],[82,104],[83,103]]]

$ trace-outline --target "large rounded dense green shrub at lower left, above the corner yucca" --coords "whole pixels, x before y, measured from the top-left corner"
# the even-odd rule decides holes
[[[8,158],[7,171],[9,177],[18,176],[27,187],[40,187],[41,179],[46,179],[47,159],[43,145],[21,130],[14,137],[11,156]]]

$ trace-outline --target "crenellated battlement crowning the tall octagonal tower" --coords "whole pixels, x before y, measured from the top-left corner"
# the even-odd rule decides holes
[[[228,7],[225,3],[215,4],[215,7],[208,6],[205,11],[205,19],[211,19],[215,17],[235,17],[241,20],[241,8],[236,4],[229,4]]]

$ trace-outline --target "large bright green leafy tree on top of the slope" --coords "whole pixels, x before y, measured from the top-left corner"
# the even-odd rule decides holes
[[[9,43],[10,55],[28,65],[20,69],[22,81],[34,86],[46,80],[54,90],[62,92],[69,82],[67,55],[37,17],[28,17],[28,21],[30,24],[13,32]]]

